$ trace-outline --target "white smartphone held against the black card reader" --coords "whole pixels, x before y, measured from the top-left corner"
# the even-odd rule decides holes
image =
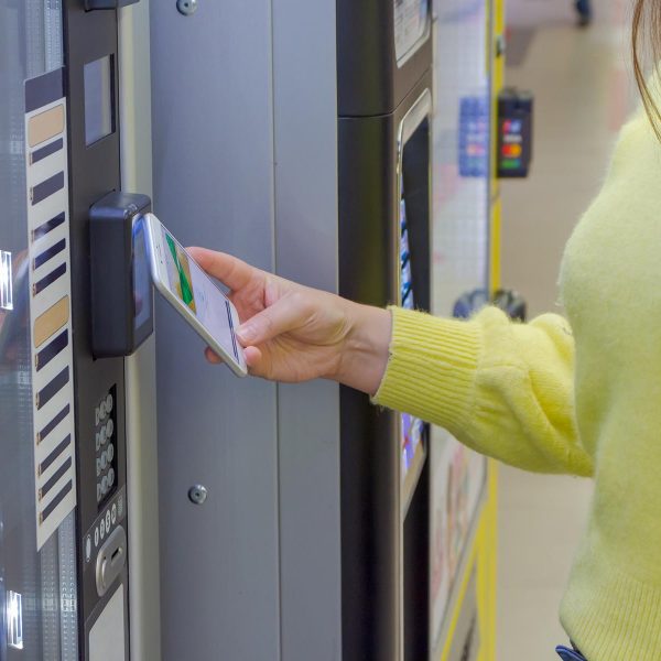
[[[245,377],[243,349],[235,335],[236,307],[153,214],[142,221],[154,286],[231,371]]]

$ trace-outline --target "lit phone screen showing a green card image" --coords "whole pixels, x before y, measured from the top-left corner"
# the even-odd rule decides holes
[[[197,317],[227,355],[241,362],[229,301],[174,237],[165,228],[161,231],[170,291]]]

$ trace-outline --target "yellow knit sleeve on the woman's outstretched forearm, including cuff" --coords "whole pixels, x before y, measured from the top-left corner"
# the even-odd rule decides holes
[[[574,339],[563,317],[520,324],[495,307],[467,322],[391,312],[390,360],[375,403],[519,468],[593,474],[576,430]]]

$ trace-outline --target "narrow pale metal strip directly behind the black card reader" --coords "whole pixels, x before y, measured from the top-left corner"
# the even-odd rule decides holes
[[[118,12],[122,191],[152,193],[149,0]],[[155,340],[124,361],[131,658],[161,661]]]

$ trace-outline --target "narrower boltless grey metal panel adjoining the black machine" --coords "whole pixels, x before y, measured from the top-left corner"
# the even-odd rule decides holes
[[[338,256],[335,6],[335,0],[273,2],[277,271],[333,292]],[[337,660],[339,389],[315,382],[278,391],[282,659],[308,659],[314,650],[319,661]]]

